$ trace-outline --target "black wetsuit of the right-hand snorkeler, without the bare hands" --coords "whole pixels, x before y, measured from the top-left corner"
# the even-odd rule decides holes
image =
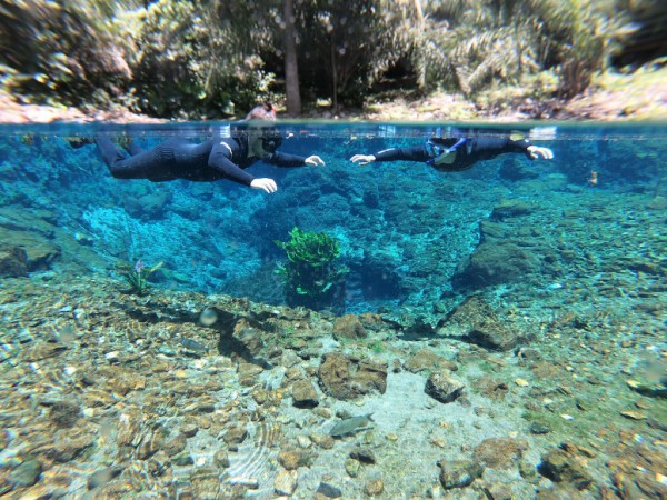
[[[526,139],[514,141],[506,138],[476,138],[466,139],[456,148],[456,157],[450,163],[436,163],[434,160],[448,148],[454,147],[459,139],[431,139],[425,144],[414,148],[391,148],[375,154],[375,161],[421,161],[445,172],[459,172],[467,170],[478,161],[491,160],[498,154],[506,152],[522,152],[529,159],[528,147],[530,142]]]

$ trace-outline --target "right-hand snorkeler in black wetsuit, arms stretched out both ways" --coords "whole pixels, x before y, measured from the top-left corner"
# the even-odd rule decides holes
[[[550,160],[549,148],[531,146],[527,139],[510,138],[431,138],[414,148],[390,148],[375,154],[355,154],[350,161],[369,164],[376,161],[420,161],[444,172],[460,172],[478,161],[491,160],[507,152],[525,153],[529,159]]]

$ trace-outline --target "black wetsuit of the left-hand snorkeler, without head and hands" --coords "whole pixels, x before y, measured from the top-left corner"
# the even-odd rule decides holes
[[[273,152],[267,158],[248,156],[248,137],[219,137],[199,144],[186,139],[169,139],[150,149],[141,150],[130,141],[128,157],[108,134],[94,138],[111,174],[118,179],[148,179],[165,182],[175,179],[210,182],[228,179],[250,186],[255,177],[245,169],[261,160],[276,167],[303,167],[305,157]]]

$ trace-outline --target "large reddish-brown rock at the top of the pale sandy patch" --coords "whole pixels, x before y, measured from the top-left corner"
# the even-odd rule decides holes
[[[322,390],[335,398],[348,400],[387,390],[387,362],[326,354],[319,368]]]

